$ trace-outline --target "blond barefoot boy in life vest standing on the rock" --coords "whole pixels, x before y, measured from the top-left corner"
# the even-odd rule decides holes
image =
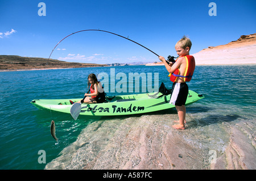
[[[188,85],[186,82],[191,80],[193,71],[195,70],[195,58],[189,56],[191,45],[191,40],[185,36],[177,41],[175,49],[179,58],[177,58],[174,64],[169,65],[164,57],[159,56],[159,60],[164,62],[167,71],[170,73],[171,81],[174,82],[170,104],[175,105],[179,116],[179,121],[175,121],[179,124],[172,126],[176,129],[185,129],[185,102],[188,96]]]

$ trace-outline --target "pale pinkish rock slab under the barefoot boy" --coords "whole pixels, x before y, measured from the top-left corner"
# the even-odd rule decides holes
[[[179,131],[171,127],[176,119],[168,114],[95,121],[46,169],[256,169],[254,123],[213,129],[188,119],[187,129]]]

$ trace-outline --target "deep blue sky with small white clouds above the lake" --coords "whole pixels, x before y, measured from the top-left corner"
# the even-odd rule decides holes
[[[38,4],[46,4],[39,16]],[[210,2],[217,16],[210,16]],[[48,58],[70,33],[100,29],[137,41],[160,56],[176,56],[183,36],[191,54],[256,32],[256,1],[0,0],[0,54]],[[131,41],[105,32],[81,32],[63,40],[51,58],[96,64],[159,61]]]

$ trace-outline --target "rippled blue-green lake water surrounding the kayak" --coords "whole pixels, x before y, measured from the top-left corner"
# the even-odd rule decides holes
[[[159,85],[164,82],[168,89],[172,83],[164,66],[117,66],[104,68],[77,68],[56,70],[30,70],[0,72],[0,169],[44,169],[61,150],[76,141],[82,129],[104,117],[81,117],[76,121],[71,115],[42,111],[32,106],[32,99],[82,98],[88,91],[87,76],[90,73],[106,73],[111,77],[121,73],[127,78],[127,92],[119,93],[109,85],[108,95],[131,94],[129,73],[158,74]],[[113,73],[113,72],[112,72]],[[149,74],[148,74],[149,73]],[[120,75],[120,74],[119,74]],[[102,79],[103,81],[103,79]],[[106,81],[106,79],[105,79]],[[115,79],[116,85],[120,79]],[[196,66],[189,89],[203,94],[205,99],[187,107],[187,113],[199,124],[217,120],[255,120],[256,112],[256,65]],[[135,83],[135,82],[133,82]],[[143,82],[139,83],[140,92]],[[124,86],[124,85],[123,85]],[[152,85],[154,87],[155,85]],[[106,85],[105,85],[106,87]],[[135,85],[134,85],[135,87]],[[205,117],[207,119],[200,119]],[[56,136],[50,133],[51,120],[56,124]],[[196,125],[195,125],[196,126]],[[39,150],[46,152],[46,163],[39,163]]]

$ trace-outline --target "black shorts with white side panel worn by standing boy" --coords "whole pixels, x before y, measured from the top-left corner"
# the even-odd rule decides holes
[[[174,104],[175,106],[185,105],[185,102],[188,97],[188,85],[187,83],[176,83],[172,85],[172,95],[170,104]]]

